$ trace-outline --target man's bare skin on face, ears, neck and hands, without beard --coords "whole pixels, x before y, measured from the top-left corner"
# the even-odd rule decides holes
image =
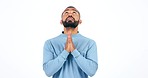
[[[79,20],[79,24],[82,23],[82,21],[80,19],[80,15],[76,11],[75,8],[66,8],[65,11],[63,12],[62,19],[61,19],[60,23],[62,24],[62,21],[65,21],[68,16],[72,16],[76,21]],[[74,20],[72,20],[72,22],[74,22]],[[75,46],[73,44],[71,35],[77,34],[77,32],[78,32],[78,26],[76,28],[71,28],[71,27],[65,28],[64,27],[64,34],[67,34],[67,41],[65,44],[65,50],[67,52],[73,52],[75,50]]]

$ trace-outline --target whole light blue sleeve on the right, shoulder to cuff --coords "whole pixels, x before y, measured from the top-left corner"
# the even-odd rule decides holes
[[[71,53],[78,66],[89,76],[93,76],[98,69],[98,57],[96,43],[92,42],[91,47],[87,51],[86,57],[83,57],[80,52],[75,49]]]

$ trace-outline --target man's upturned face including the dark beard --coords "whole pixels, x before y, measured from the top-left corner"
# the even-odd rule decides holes
[[[80,14],[75,8],[66,8],[62,14],[64,27],[76,28],[79,24]]]

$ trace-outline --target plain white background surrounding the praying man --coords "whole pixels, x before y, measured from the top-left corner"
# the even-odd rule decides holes
[[[98,46],[92,78],[148,78],[148,0],[0,0],[0,78],[48,78],[43,45],[61,34],[69,5]]]

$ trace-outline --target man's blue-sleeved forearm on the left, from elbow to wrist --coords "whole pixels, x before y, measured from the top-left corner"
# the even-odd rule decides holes
[[[54,75],[64,64],[68,56],[68,52],[64,50],[58,57],[55,59],[49,60],[43,64],[43,69],[47,76]]]

